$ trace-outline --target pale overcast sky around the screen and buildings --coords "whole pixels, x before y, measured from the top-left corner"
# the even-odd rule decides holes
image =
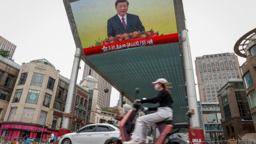
[[[14,61],[21,65],[46,59],[70,78],[76,46],[63,2],[0,0],[0,5],[0,36],[17,45]],[[193,65],[202,55],[234,52],[236,41],[256,27],[255,5],[255,0],[183,0]],[[238,60],[240,66],[246,61],[239,56]],[[82,80],[83,61],[80,66],[77,83]],[[113,89],[110,106],[118,99],[119,92]]]

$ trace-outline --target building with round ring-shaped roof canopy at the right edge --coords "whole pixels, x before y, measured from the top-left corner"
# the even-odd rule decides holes
[[[254,129],[256,127],[256,28],[250,30],[238,39],[234,51],[246,61],[240,67],[244,88],[249,101],[250,113],[252,114]]]

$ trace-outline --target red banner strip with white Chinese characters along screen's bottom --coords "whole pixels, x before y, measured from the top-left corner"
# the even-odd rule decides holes
[[[100,54],[106,52],[114,52],[118,50],[126,50],[126,49],[134,49],[135,47],[141,46],[150,46],[150,45],[158,45],[158,44],[168,44],[168,43],[177,43],[179,42],[178,33],[170,34],[170,35],[162,35],[156,37],[148,37],[143,39],[135,39],[132,41],[112,43],[107,45],[100,45],[85,48],[85,55],[93,55]]]

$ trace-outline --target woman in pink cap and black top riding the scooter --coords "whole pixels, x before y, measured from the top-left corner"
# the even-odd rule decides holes
[[[166,81],[166,79],[159,78],[156,80],[156,82],[153,82],[152,84],[155,86],[155,90],[159,91],[157,96],[152,99],[135,100],[134,102],[137,102],[137,103],[159,102],[158,107],[143,108],[143,110],[145,111],[155,110],[156,113],[138,117],[135,123],[135,128],[134,128],[131,140],[123,142],[123,144],[137,144],[137,143],[145,142],[146,134],[149,126],[154,126],[155,123],[157,122],[161,122],[161,121],[164,121],[165,119],[172,118],[173,100],[171,98],[171,95],[169,94],[170,91],[168,90],[171,87],[167,87],[167,84],[169,83]]]

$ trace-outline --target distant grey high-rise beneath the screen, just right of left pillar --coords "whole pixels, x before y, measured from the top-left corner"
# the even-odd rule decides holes
[[[83,79],[86,76],[92,76],[96,79],[98,82],[98,105],[102,107],[109,107],[110,105],[110,95],[111,95],[111,85],[102,78],[99,74],[97,74],[92,68],[90,68],[88,65],[84,65],[84,72],[83,72]],[[83,81],[82,79],[82,81]],[[83,86],[83,82],[81,81],[81,86]]]

